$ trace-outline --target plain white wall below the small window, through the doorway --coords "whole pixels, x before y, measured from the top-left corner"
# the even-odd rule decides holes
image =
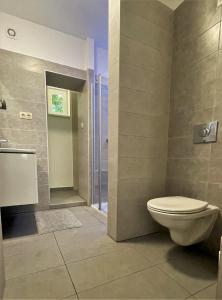
[[[49,186],[73,187],[72,117],[48,115]]]

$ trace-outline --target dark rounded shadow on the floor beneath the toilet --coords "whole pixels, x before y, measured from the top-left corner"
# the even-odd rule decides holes
[[[167,253],[167,262],[180,273],[189,277],[216,280],[218,260],[201,250],[200,244],[181,247],[175,246]],[[198,267],[197,267],[198,266]],[[203,272],[201,272],[201,269]],[[208,270],[207,272],[204,270]]]

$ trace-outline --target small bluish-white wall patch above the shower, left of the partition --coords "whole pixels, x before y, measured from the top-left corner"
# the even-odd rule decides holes
[[[95,72],[96,75],[108,78],[108,50],[104,48],[95,49]]]

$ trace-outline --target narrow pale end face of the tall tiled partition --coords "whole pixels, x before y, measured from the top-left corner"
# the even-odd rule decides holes
[[[109,1],[108,233],[117,239],[120,0]]]

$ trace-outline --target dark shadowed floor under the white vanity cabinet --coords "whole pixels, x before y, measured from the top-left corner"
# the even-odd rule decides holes
[[[8,215],[2,213],[3,239],[37,234],[34,212]]]

